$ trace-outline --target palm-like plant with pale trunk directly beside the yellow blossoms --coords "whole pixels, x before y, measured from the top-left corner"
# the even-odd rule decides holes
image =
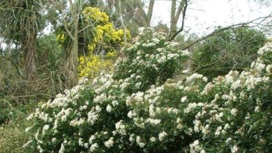
[[[63,19],[56,29],[56,35],[63,38],[66,84],[68,88],[72,88],[78,81],[78,53],[87,51],[96,29],[93,23],[82,14],[82,10],[87,6],[86,1],[68,2],[69,7],[63,9]]]

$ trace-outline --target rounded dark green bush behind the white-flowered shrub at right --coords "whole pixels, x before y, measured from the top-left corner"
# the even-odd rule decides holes
[[[213,78],[229,70],[245,70],[256,59],[265,40],[264,33],[246,26],[216,33],[194,51],[193,57],[203,66],[198,72]]]

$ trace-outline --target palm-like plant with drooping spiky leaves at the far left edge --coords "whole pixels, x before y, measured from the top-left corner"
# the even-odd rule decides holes
[[[27,79],[36,79],[35,51],[37,33],[43,29],[39,0],[1,0],[1,36],[22,47]]]

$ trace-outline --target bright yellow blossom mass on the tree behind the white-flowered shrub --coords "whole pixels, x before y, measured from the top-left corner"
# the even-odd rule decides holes
[[[94,78],[100,72],[113,70],[112,58],[116,55],[116,48],[124,44],[124,31],[115,29],[114,24],[109,22],[109,16],[101,12],[99,8],[87,7],[82,13],[86,18],[85,22],[94,24],[96,35],[88,45],[89,56],[80,56],[79,77]],[[126,29],[126,37],[130,40],[128,29]],[[98,55],[97,48],[105,51],[106,56]]]

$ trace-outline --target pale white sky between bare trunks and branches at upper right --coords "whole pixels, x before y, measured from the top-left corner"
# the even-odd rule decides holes
[[[162,21],[169,25],[171,1],[156,0],[151,24]],[[185,30],[205,35],[215,26],[229,26],[248,22],[272,13],[272,6],[266,7],[253,0],[190,0],[186,11]],[[181,20],[178,23],[181,26]]]

